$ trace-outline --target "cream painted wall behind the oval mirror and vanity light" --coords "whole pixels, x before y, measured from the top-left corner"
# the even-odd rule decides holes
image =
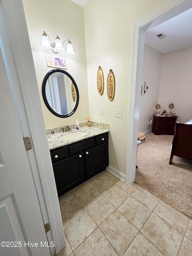
[[[70,0],[57,0],[55,2],[51,0],[23,0],[23,6],[46,128],[74,124],[76,119],[79,119],[79,122],[86,121],[86,117],[89,116],[89,102],[83,8]],[[72,56],[66,55],[65,52],[54,54],[51,50],[42,49],[40,47],[41,36],[44,31],[48,33],[53,43],[57,35],[62,42],[65,39],[70,39],[76,54]],[[64,43],[65,50],[66,43]],[[79,106],[76,112],[68,118],[54,116],[44,104],[41,86],[44,76],[52,69],[47,67],[45,54],[65,57],[67,59],[66,71],[72,75],[78,86]]]

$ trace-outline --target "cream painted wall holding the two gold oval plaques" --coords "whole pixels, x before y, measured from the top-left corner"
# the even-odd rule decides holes
[[[84,7],[88,92],[91,119],[110,124],[110,166],[126,173],[127,124],[131,72],[132,29],[135,20],[164,1],[90,0]],[[104,72],[104,93],[97,92],[97,71]],[[116,88],[107,98],[107,76],[112,69]],[[103,108],[103,115],[99,115]],[[122,109],[122,118],[115,109]]]

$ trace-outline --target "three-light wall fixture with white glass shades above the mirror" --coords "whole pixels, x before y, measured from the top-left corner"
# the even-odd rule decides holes
[[[73,45],[71,44],[69,39],[66,39],[65,41],[67,42],[67,50],[66,50],[66,54],[68,55],[74,55],[75,52],[73,51]],[[64,42],[65,42],[64,41]],[[42,44],[41,44],[41,48],[44,49],[50,49],[52,50],[53,53],[60,53],[60,52],[64,52],[64,48],[63,48],[63,44],[61,42],[61,39],[58,37],[56,37],[55,39],[55,43],[52,43],[49,35],[44,31],[43,35],[42,35]]]

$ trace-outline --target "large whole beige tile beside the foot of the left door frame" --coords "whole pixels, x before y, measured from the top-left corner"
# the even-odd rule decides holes
[[[64,231],[74,251],[96,228],[95,221],[84,207],[63,221]]]

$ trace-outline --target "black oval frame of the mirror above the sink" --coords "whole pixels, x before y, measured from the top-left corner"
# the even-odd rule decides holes
[[[70,112],[69,114],[67,114],[67,115],[60,115],[60,114],[56,113],[54,110],[52,110],[52,108],[49,106],[49,103],[48,103],[47,98],[46,98],[46,93],[45,93],[46,82],[47,82],[49,76],[50,76],[51,74],[53,74],[53,73],[56,73],[56,72],[61,72],[61,73],[65,74],[65,75],[67,75],[67,76],[70,78],[70,80],[72,81],[72,83],[74,84],[74,86],[75,86],[75,90],[76,90],[76,104],[75,104],[75,107],[74,107],[73,111],[71,111],[71,112]],[[78,107],[78,104],[79,104],[79,90],[78,90],[78,88],[77,88],[76,82],[75,82],[75,80],[73,79],[73,77],[72,77],[67,71],[65,71],[65,70],[63,70],[63,69],[61,69],[61,68],[52,69],[52,70],[50,70],[50,71],[45,75],[44,80],[43,80],[43,83],[42,83],[42,95],[43,95],[44,103],[45,103],[46,107],[48,108],[48,110],[49,110],[53,115],[58,116],[58,117],[61,117],[61,118],[66,118],[66,117],[72,116],[72,115],[75,113],[75,111],[76,111],[76,109],[77,109],[77,107]]]

